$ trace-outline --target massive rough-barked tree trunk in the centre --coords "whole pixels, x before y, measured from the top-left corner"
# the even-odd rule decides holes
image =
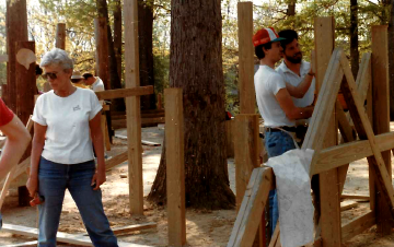
[[[231,209],[220,0],[172,0],[170,86],[183,89],[186,205]],[[165,142],[164,142],[165,143]],[[165,203],[165,146],[148,200]]]

